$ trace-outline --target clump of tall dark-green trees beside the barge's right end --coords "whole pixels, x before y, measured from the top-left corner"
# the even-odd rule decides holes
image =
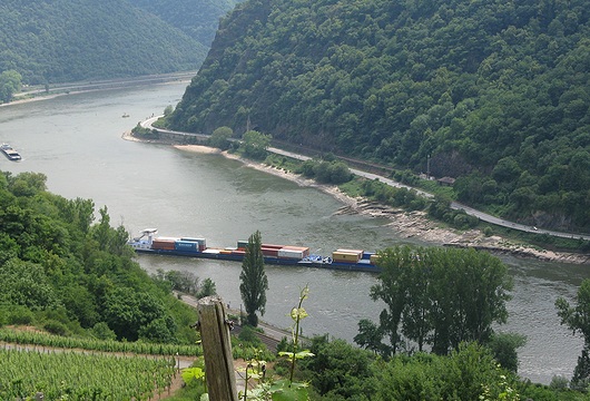
[[[429,344],[439,354],[458,350],[465,341],[485,343],[493,333],[492,323],[508,317],[505,302],[512,284],[507,266],[488,253],[396,246],[378,256],[382,273],[371,297],[386,304],[380,329],[393,353],[404,338],[419,351]]]

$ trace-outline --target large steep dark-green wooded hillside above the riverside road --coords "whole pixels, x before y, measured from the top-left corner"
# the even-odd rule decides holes
[[[587,1],[250,0],[168,118],[458,178],[499,215],[590,231]]]

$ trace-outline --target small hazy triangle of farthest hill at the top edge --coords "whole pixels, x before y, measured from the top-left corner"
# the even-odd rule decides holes
[[[242,0],[129,0],[209,48],[219,19]]]

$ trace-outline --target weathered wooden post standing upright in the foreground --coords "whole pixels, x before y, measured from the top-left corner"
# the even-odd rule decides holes
[[[229,324],[217,295],[198,301],[200,339],[210,401],[238,401]]]

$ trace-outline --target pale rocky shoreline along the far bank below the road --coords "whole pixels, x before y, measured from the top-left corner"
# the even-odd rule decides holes
[[[125,133],[122,138],[141,141],[141,139],[135,138],[131,133]],[[427,218],[424,212],[406,212],[400,208],[393,208],[370,202],[366,198],[354,198],[342,193],[336,186],[318,184],[313,179],[307,179],[291,172],[278,169],[262,163],[244,159],[227,151],[220,151],[201,145],[170,145],[185,151],[219,154],[224,157],[239,160],[244,165],[257,170],[289,179],[299,186],[317,188],[343,203],[343,206],[336,212],[336,214],[361,214],[372,217],[385,217],[390,221],[389,226],[392,231],[404,238],[415,237],[423,242],[441,246],[473,247],[476,250],[489,251],[494,254],[535,258],[545,262],[590,264],[590,254],[552,252],[530,245],[517,244],[498,235],[485,236],[479,229],[462,232],[449,227],[442,227],[439,223]]]

